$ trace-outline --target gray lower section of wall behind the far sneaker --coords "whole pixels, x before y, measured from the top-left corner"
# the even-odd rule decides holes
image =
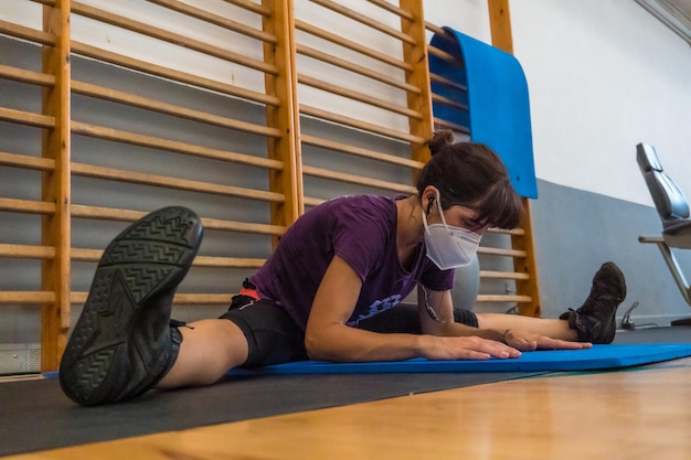
[[[646,186],[642,178],[640,186]],[[635,301],[639,306],[631,318],[637,324],[691,317],[657,246],[638,242],[641,235],[660,235],[655,208],[546,181],[539,181],[539,191],[531,208],[543,317],[581,306],[593,274],[606,260],[615,261],[627,278],[628,295],[618,317]],[[691,274],[691,252],[676,256]]]

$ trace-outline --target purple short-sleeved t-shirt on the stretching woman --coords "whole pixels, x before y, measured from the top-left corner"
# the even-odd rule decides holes
[[[421,244],[407,271],[396,249],[400,197],[342,196],[313,207],[297,220],[266,264],[251,278],[262,299],[283,307],[305,330],[319,284],[334,255],[362,279],[349,325],[395,307],[419,282],[448,290],[454,270],[439,270]]]

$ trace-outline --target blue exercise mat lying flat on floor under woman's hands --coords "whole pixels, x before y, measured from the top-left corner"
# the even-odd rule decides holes
[[[376,363],[300,361],[255,370],[232,370],[227,375],[369,374],[439,372],[555,372],[628,367],[691,356],[688,344],[593,345],[587,350],[551,350],[523,353],[519,359],[486,361],[427,361],[415,359]]]

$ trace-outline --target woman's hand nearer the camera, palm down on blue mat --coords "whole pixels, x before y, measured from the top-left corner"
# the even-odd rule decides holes
[[[521,352],[501,342],[479,336],[422,335],[422,354],[427,360],[489,360],[519,357]]]

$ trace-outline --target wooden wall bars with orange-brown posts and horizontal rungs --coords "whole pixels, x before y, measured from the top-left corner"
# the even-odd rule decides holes
[[[313,24],[296,20],[291,0],[263,0],[255,3],[248,0],[226,0],[228,3],[246,9],[261,15],[262,31],[248,30],[242,24],[234,23],[225,18],[217,18],[208,12],[190,7],[176,0],[152,0],[152,3],[169,8],[182,14],[223,26],[237,33],[243,33],[263,41],[264,58],[255,61],[242,55],[235,55],[211,45],[199,43],[190,38],[172,32],[148,26],[131,19],[100,11],[96,8],[78,3],[74,0],[32,0],[42,4],[43,30],[32,30],[7,21],[0,21],[0,33],[21,40],[28,40],[43,47],[43,68],[32,72],[0,65],[0,78],[7,78],[24,84],[36,85],[43,92],[43,109],[41,113],[30,113],[7,107],[0,107],[0,120],[35,127],[42,130],[41,157],[22,156],[11,152],[0,152],[0,167],[22,168],[39,171],[42,175],[40,201],[1,197],[0,212],[28,213],[41,216],[41,244],[17,245],[3,244],[0,240],[0,257],[34,259],[41,261],[41,287],[36,291],[0,291],[1,304],[41,304],[41,346],[42,370],[57,368],[62,351],[66,344],[70,331],[70,314],[73,303],[83,303],[86,292],[76,292],[71,288],[72,264],[74,261],[95,263],[100,257],[100,250],[73,247],[72,220],[96,218],[131,222],[143,214],[141,211],[118,210],[87,206],[74,203],[72,195],[72,178],[87,176],[105,180],[124,181],[127,183],[146,183],[152,186],[171,186],[176,190],[193,191],[195,193],[211,192],[214,194],[238,196],[259,200],[270,206],[270,223],[234,222],[203,217],[206,228],[231,231],[249,234],[266,235],[275,245],[280,235],[295,220],[301,215],[306,206],[313,206],[323,201],[322,197],[306,196],[304,180],[306,176],[316,176],[352,184],[375,186],[381,190],[396,193],[415,193],[407,183],[397,183],[341,171],[331,171],[310,165],[304,161],[302,148],[320,148],[341,152],[353,158],[365,158],[395,168],[408,168],[415,176],[429,158],[425,148],[425,140],[434,130],[434,115],[430,93],[430,75],[427,65],[429,50],[426,44],[426,31],[440,29],[425,21],[423,0],[400,0],[395,7],[383,0],[370,0],[370,3],[400,18],[401,28],[395,30],[364,18],[330,0],[313,0],[320,8],[326,8],[342,14],[349,20],[358,21],[371,26],[378,33],[387,34],[401,41],[402,56],[396,61],[390,56],[371,50],[364,44],[352,43],[343,38],[336,38],[328,31],[320,30]],[[496,46],[511,52],[510,18],[507,0],[488,0],[490,11],[492,42]],[[84,43],[72,40],[71,14],[86,15],[91,19],[130,29],[136,33],[156,38],[169,43],[181,43],[188,49],[200,53],[214,55],[219,58],[245,65],[264,73],[265,92],[255,94],[242,88],[234,88],[216,82],[195,77],[192,74],[168,71],[138,62],[136,60],[116,55],[111,52],[97,50]],[[312,33],[325,40],[334,40],[340,45],[350,47],[368,55],[370,58],[390,63],[393,67],[404,71],[403,81],[396,81],[381,73],[359,66],[339,56],[321,53],[305,43],[296,40],[296,31]],[[266,107],[266,125],[255,126],[242,120],[225,119],[212,114],[200,113],[184,107],[174,107],[170,104],[147,99],[120,90],[98,87],[97,85],[74,79],[71,71],[71,56],[77,53],[81,56],[103,60],[118,66],[143,72],[151,75],[167,77],[188,85],[196,85],[230,94],[233,97],[246,98]],[[402,88],[406,92],[405,104],[385,103],[368,97],[357,90],[329,84],[310,75],[299,72],[297,55],[309,55],[321,60],[329,65],[337,65],[346,72],[383,82]],[[298,87],[307,85],[332,92],[340,97],[374,105],[390,110],[397,116],[407,117],[407,132],[400,132],[386,126],[364,122],[318,107],[301,104]],[[128,133],[107,127],[72,119],[72,95],[94,97],[100,100],[110,100],[129,107],[151,110],[157,114],[167,114],[193,119],[214,126],[223,126],[242,132],[252,132],[266,137],[267,158],[252,158],[241,153],[219,151],[200,146],[184,145],[170,140],[156,139],[150,136]],[[301,117],[322,119],[331,124],[359,131],[366,131],[375,136],[394,139],[410,145],[410,158],[382,153],[358,146],[338,142],[321,138],[315,133],[302,132]],[[249,164],[265,168],[268,174],[268,190],[258,191],[234,186],[204,184],[183,179],[171,179],[155,174],[141,174],[131,171],[119,171],[92,164],[77,163],[71,158],[71,141],[73,135],[108,141],[124,142],[135,147],[157,148],[200,158],[222,159],[223,161]],[[522,227],[511,232],[510,250],[481,248],[480,254],[511,257],[514,261],[513,272],[482,271],[482,278],[508,278],[515,280],[515,295],[480,295],[478,302],[517,302],[521,314],[540,315],[538,292],[538,274],[532,244],[530,221],[530,203],[524,201],[527,220]],[[262,259],[248,259],[227,256],[200,256],[195,259],[199,267],[248,268],[256,269]],[[231,293],[180,293],[176,302],[185,304],[222,304],[227,303]]]

